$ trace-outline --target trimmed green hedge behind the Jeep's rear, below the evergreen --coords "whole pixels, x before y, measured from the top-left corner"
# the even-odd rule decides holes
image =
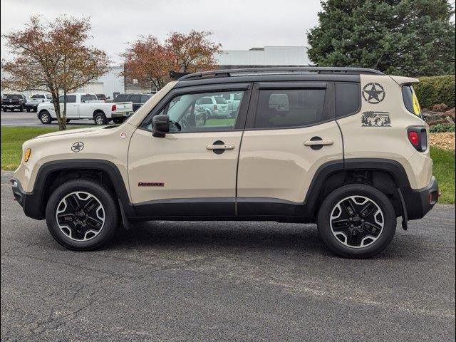
[[[432,109],[432,105],[440,103],[455,107],[455,75],[421,77],[413,88],[421,108]]]

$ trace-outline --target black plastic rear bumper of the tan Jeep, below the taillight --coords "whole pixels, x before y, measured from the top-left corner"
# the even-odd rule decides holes
[[[408,219],[421,219],[434,207],[439,198],[439,185],[435,177],[423,189],[401,189]]]

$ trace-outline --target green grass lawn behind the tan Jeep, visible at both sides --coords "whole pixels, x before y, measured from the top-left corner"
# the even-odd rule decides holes
[[[233,119],[210,119],[213,125],[230,125]],[[210,121],[208,120],[208,121]],[[221,122],[223,121],[223,123]],[[78,127],[81,128],[81,127]],[[37,135],[55,132],[58,128],[48,127],[2,127],[1,170],[15,170],[21,161],[21,146],[25,140]],[[431,146],[434,160],[434,175],[442,192],[440,203],[455,203],[455,152]]]

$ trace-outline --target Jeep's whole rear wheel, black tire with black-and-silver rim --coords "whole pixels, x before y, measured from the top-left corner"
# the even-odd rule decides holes
[[[397,224],[388,197],[363,184],[344,185],[331,192],[321,204],[317,222],[326,246],[348,258],[368,258],[382,252],[393,239]]]

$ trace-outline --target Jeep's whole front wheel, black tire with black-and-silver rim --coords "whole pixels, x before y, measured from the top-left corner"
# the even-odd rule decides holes
[[[64,221],[66,217],[68,221]],[[118,206],[113,194],[100,183],[70,180],[49,197],[46,224],[52,237],[63,247],[90,251],[113,237],[119,225]]]

